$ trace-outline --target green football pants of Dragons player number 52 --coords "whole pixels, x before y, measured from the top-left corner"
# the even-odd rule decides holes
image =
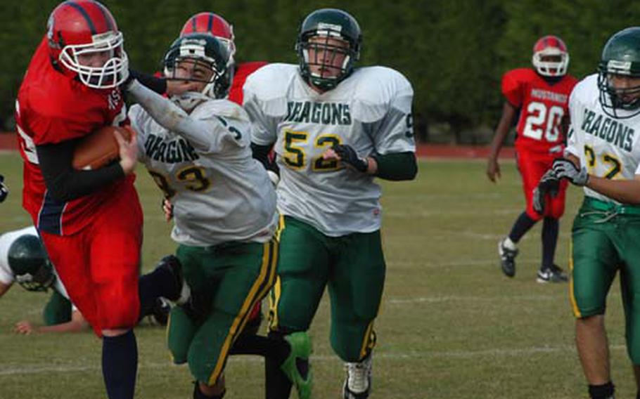
[[[361,360],[376,343],[373,320],[385,281],[380,231],[328,237],[289,216],[281,223],[269,329],[286,333],[309,329],[328,286],[331,346],[345,362]]]

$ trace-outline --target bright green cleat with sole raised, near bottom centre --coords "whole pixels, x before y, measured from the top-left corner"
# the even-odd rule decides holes
[[[291,351],[280,365],[280,369],[289,377],[297,391],[299,399],[310,399],[313,374],[309,365],[312,353],[311,340],[307,332],[294,332],[284,336]]]

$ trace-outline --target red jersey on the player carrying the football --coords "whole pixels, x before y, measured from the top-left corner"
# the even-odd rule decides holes
[[[120,89],[91,89],[56,70],[44,37],[29,64],[15,104],[20,155],[25,162],[23,207],[39,230],[57,235],[76,233],[91,223],[100,207],[108,205],[113,196],[135,195],[135,177],[132,174],[91,195],[58,202],[47,193],[35,146],[80,138],[98,127],[126,121],[127,110]]]

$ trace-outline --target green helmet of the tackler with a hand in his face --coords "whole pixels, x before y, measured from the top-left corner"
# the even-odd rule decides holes
[[[193,60],[212,70],[210,79],[184,79],[176,76],[177,65],[184,60]],[[229,51],[226,46],[210,34],[192,33],[176,39],[165,54],[165,77],[167,79],[204,81],[207,85],[202,93],[210,98],[224,98],[231,86]]]

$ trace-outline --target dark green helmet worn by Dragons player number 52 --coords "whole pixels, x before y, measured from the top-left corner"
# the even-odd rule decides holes
[[[312,38],[319,39],[310,41]],[[347,46],[330,44],[329,39],[343,40]],[[310,13],[302,21],[295,43],[302,78],[324,91],[333,89],[353,72],[354,63],[360,58],[361,44],[360,27],[349,13],[335,8]],[[336,56],[344,57],[340,67],[333,65]],[[325,76],[323,71],[332,72],[333,76]]]

